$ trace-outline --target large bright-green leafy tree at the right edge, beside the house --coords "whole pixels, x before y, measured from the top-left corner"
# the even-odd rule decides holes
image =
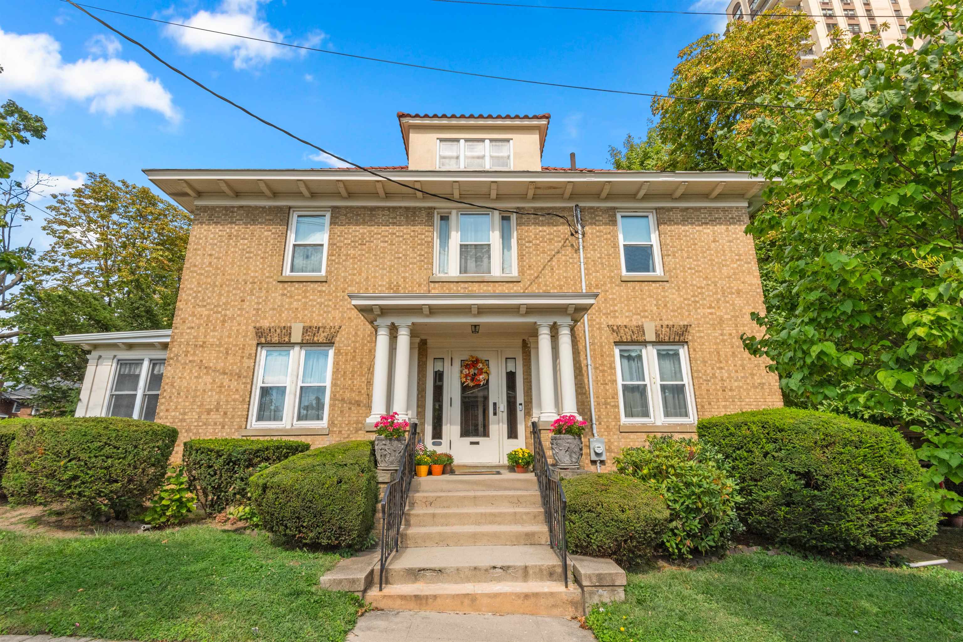
[[[917,51],[852,39],[826,72],[842,89],[830,107],[762,108],[719,146],[781,178],[769,196],[792,204],[747,228],[782,240],[772,251],[787,285],[743,345],[799,398],[923,432],[934,486],[963,481],[961,29],[956,3],[935,0],[911,18]],[[787,76],[761,100],[809,106],[811,92]],[[943,492],[944,510],[961,506]]]

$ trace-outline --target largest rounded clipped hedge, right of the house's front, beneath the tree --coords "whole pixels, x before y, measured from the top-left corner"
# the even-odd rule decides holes
[[[879,554],[936,532],[923,469],[894,429],[775,408],[699,421],[737,476],[746,526],[775,543]]]

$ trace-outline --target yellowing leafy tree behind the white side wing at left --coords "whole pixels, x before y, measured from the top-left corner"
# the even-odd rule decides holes
[[[53,199],[43,224],[51,246],[0,320],[20,333],[0,346],[0,374],[36,386],[39,407],[65,414],[87,360],[54,336],[169,328],[191,218],[145,187],[93,172]]]

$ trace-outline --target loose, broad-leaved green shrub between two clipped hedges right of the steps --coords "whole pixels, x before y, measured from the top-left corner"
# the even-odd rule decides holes
[[[663,546],[673,557],[728,548],[742,530],[736,481],[715,449],[672,435],[649,437],[648,446],[623,449],[615,468],[648,484],[668,505],[671,521]]]

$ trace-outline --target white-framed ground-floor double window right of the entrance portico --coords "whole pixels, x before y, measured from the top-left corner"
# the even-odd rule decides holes
[[[616,346],[624,424],[692,424],[694,403],[685,346]]]

